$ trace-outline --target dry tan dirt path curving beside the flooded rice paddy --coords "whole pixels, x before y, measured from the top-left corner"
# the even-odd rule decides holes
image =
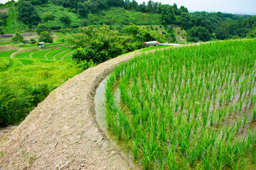
[[[69,79],[38,104],[0,148],[0,169],[135,169],[97,125],[94,95],[114,58]]]

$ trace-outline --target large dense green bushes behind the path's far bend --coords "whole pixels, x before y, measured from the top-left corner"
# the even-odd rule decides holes
[[[71,35],[69,39],[70,44],[80,47],[75,50],[73,59],[77,62],[92,60],[101,63],[142,48],[144,41],[166,41],[164,35],[144,26],[131,24],[121,31],[122,35],[105,25],[100,28],[80,28],[80,33]]]

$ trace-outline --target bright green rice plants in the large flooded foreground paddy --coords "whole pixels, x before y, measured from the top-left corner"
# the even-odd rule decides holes
[[[143,53],[107,80],[108,128],[144,169],[255,169],[255,61],[256,40]]]

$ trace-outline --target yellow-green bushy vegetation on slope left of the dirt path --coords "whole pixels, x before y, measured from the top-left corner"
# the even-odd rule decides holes
[[[14,65],[0,72],[0,126],[21,122],[29,111],[56,87],[74,77],[92,63],[41,63],[11,59]],[[32,64],[34,63],[34,64]],[[26,66],[24,66],[26,65]]]

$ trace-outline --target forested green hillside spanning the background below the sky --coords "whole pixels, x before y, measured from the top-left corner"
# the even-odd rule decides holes
[[[188,13],[188,8],[154,1],[132,0],[19,0],[0,5],[0,32],[14,33],[100,26],[114,29],[134,23],[147,26],[180,26],[188,40],[254,38],[255,16],[230,13]]]

